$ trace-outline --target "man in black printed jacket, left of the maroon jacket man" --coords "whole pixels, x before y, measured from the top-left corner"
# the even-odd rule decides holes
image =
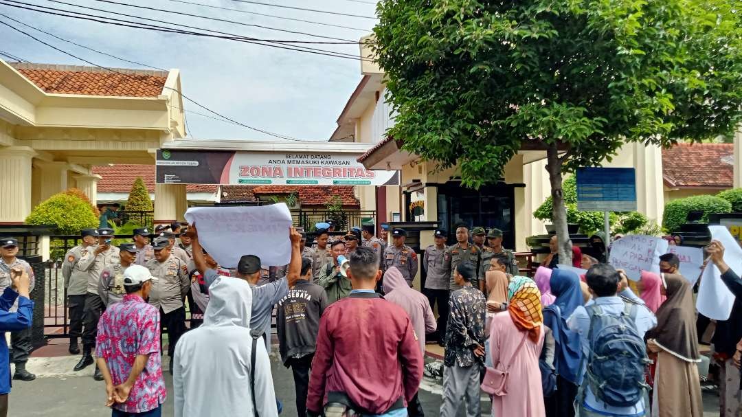
[[[300,417],[306,416],[309,372],[317,349],[320,318],[327,305],[324,288],[312,283],[312,260],[302,258],[301,277],[289,294],[278,301],[276,315],[280,357],[294,375],[296,410]]]

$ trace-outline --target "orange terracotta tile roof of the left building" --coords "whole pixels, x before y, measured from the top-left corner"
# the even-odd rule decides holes
[[[65,65],[12,64],[19,73],[47,93],[88,96],[157,97],[162,93],[165,71],[117,70]],[[124,73],[126,75],[124,75]]]

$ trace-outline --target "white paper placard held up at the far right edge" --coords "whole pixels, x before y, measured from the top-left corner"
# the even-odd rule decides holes
[[[712,240],[718,240],[724,246],[724,262],[732,271],[742,270],[742,249],[737,240],[724,226],[709,226]],[[735,295],[726,288],[721,280],[721,273],[714,263],[709,262],[700,278],[696,308],[700,314],[714,320],[727,320],[732,314]]]

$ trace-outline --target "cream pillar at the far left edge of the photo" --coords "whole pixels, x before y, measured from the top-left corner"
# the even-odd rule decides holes
[[[23,224],[31,212],[31,163],[27,146],[0,149],[0,224]]]

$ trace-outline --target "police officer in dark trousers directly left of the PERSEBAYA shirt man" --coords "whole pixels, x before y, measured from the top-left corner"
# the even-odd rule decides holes
[[[433,232],[435,244],[425,248],[422,268],[427,274],[423,294],[430,303],[430,308],[438,304],[438,344],[443,346],[448,321],[448,271],[445,269],[447,233],[437,229]]]

